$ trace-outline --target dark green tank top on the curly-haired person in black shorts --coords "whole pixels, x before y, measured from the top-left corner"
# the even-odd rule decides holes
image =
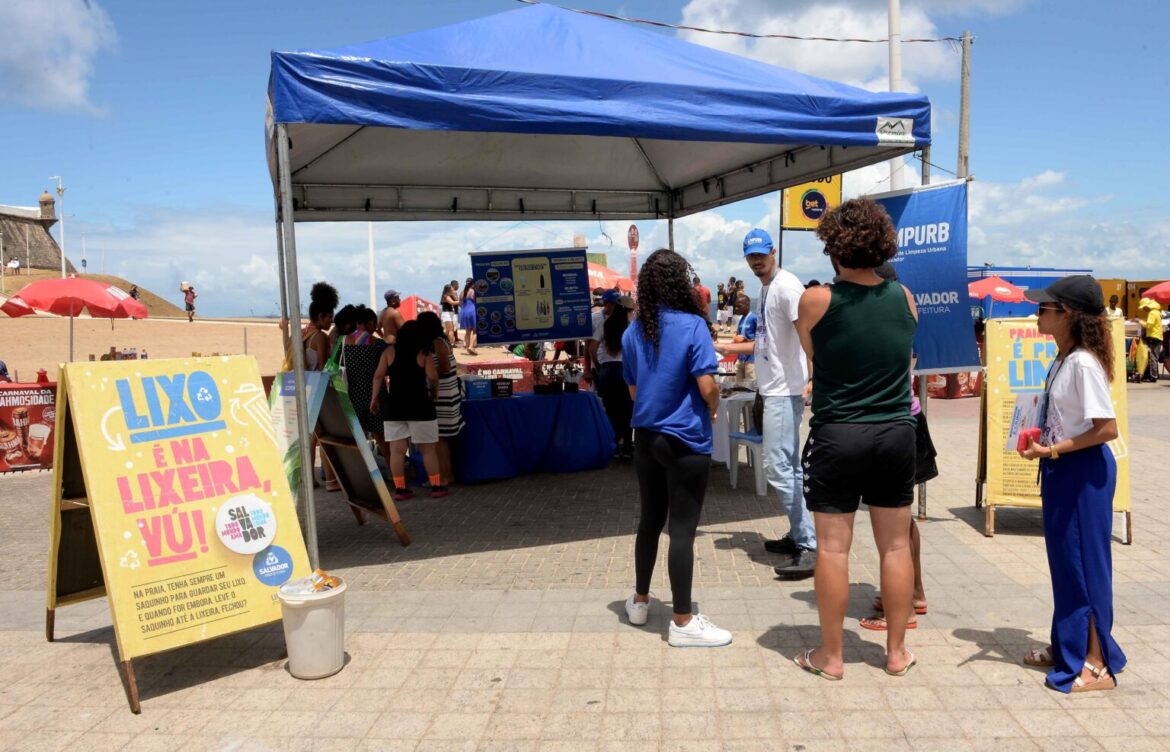
[[[902,285],[837,282],[812,329],[812,419],[821,423],[914,422],[910,354],[917,323]]]

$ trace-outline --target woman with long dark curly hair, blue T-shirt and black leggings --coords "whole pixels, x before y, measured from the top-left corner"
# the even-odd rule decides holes
[[[711,421],[720,406],[717,360],[689,283],[687,260],[661,248],[638,272],[638,317],[621,336],[621,366],[634,400],[634,467],[641,517],[634,540],[634,594],[629,623],[649,618],[651,579],[659,536],[670,520],[667,573],[674,618],[667,642],[714,648],[731,633],[691,613],[695,531],[711,464]]]

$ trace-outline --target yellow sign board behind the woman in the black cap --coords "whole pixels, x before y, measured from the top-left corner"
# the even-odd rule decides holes
[[[986,426],[983,450],[986,457],[987,504],[1040,506],[1037,463],[1021,458],[1007,447],[1012,412],[1018,395],[1042,394],[1057,344],[1037,330],[1033,318],[987,320]],[[1129,511],[1129,415],[1126,393],[1126,353],[1122,322],[1113,322],[1114,379],[1109,385],[1117,414],[1117,439],[1109,442],[1117,462],[1114,511]]]

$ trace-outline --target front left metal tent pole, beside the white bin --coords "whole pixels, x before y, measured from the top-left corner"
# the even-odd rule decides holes
[[[292,380],[296,388],[296,427],[301,441],[301,497],[304,499],[304,543],[309,550],[309,566],[317,568],[317,509],[312,498],[312,453],[309,447],[309,408],[304,388],[304,349],[301,347],[301,292],[296,269],[296,222],[292,219],[292,178],[289,170],[288,126],[276,126],[276,172],[281,182],[281,226],[284,230],[284,271],[289,334],[292,345]],[[296,319],[296,320],[291,320]]]

